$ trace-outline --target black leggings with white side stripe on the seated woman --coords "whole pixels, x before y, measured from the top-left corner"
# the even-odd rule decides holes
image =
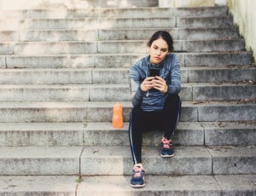
[[[142,163],[143,132],[162,130],[167,140],[170,140],[177,128],[180,118],[181,100],[178,95],[166,98],[164,109],[145,112],[140,107],[134,107],[130,114],[129,138],[131,155],[134,164]]]

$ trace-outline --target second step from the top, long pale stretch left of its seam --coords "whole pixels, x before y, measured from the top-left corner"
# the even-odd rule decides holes
[[[176,27],[176,18],[134,18],[134,19],[42,19],[42,20],[0,20],[0,29],[6,30],[97,30],[106,28],[158,28]],[[203,25],[201,25],[203,26]],[[219,25],[221,26],[221,24]]]

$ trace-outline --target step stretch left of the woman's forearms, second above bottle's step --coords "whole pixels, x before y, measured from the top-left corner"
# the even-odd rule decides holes
[[[119,92],[119,95],[116,93]],[[0,85],[0,101],[130,101],[129,84]],[[190,95],[191,96],[191,95]]]

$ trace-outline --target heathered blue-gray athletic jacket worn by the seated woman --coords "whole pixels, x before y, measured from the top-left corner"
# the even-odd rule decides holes
[[[160,65],[151,64],[149,57],[149,55],[143,57],[130,68],[132,105],[133,107],[142,107],[143,111],[148,112],[163,109],[167,95],[177,95],[181,89],[180,66],[177,55],[166,55],[165,61],[161,62]],[[143,80],[149,76],[150,67],[160,68],[160,77],[165,79],[168,85],[166,94],[156,89],[143,92],[140,88]]]

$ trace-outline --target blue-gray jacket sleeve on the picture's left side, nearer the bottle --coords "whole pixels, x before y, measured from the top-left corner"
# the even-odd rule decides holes
[[[130,80],[131,103],[133,107],[139,107],[143,102],[143,95],[145,92],[140,87],[141,82],[139,72],[137,72],[135,66],[131,66],[130,68]]]

